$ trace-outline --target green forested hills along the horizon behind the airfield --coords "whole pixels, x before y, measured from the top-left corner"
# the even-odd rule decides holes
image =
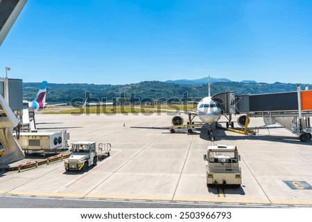
[[[24,82],[24,100],[33,100],[40,87],[40,82]],[[302,89],[304,86],[302,86]],[[284,84],[275,82],[267,83],[245,83],[245,82],[216,82],[211,84],[211,95],[234,91],[235,95],[276,93],[295,91],[296,84]],[[309,86],[312,89],[312,86]],[[53,84],[48,82],[46,102],[70,102],[73,98],[85,98],[85,93],[90,92],[92,98],[130,98],[135,93],[135,98],[182,98],[188,93],[189,98],[203,98],[208,95],[207,84],[174,84],[168,82],[139,82],[137,84],[110,85],[110,84]],[[185,95],[184,95],[185,96]]]

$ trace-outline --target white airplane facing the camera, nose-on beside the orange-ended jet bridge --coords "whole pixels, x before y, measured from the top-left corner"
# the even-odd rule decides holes
[[[168,111],[168,112],[177,112],[179,115],[175,115],[171,122],[173,124],[173,127],[182,127],[184,123],[184,119],[181,117],[180,113],[184,113],[189,115],[189,124],[188,127],[191,127],[192,125],[198,126],[198,124],[191,124],[193,118],[198,116],[200,120],[202,121],[202,124],[208,125],[208,131],[207,134],[209,136],[209,139],[214,140],[214,133],[213,133],[213,125],[217,124],[218,120],[220,119],[222,115],[222,109],[218,106],[218,103],[212,100],[211,94],[210,94],[210,77],[208,77],[208,96],[205,98],[202,98],[200,102],[198,102],[197,110],[190,110],[190,111],[179,111],[174,109],[162,109],[162,111]],[[201,125],[202,125],[201,124]],[[171,132],[174,133],[175,129],[171,129]],[[189,129],[189,132],[191,132],[191,129]]]

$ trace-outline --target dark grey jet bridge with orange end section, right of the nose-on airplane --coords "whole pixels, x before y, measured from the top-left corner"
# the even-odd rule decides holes
[[[312,91],[307,87],[302,91],[300,84],[297,91],[257,95],[234,95],[227,91],[214,95],[212,99],[218,102],[227,116],[227,128],[229,125],[234,128],[232,114],[241,114],[237,120],[241,127],[247,125],[246,115],[262,117],[265,124],[279,123],[299,136],[302,142],[311,140]]]

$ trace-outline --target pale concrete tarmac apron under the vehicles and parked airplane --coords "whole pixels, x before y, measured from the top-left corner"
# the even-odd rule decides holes
[[[0,172],[0,194],[312,206],[311,141],[300,142],[279,125],[263,127],[256,136],[215,129],[215,145],[239,149],[242,184],[207,187],[203,158],[211,145],[207,127],[195,133],[157,129],[169,127],[172,117],[37,114],[39,131],[67,129],[69,144],[109,142],[111,156],[87,172],[66,172],[62,160],[21,172]],[[223,127],[225,120],[219,122]],[[250,127],[263,125],[262,118],[250,119]]]

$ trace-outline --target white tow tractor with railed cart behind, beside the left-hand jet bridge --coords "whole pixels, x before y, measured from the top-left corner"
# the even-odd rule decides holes
[[[110,143],[100,143],[96,147],[96,142],[80,141],[75,142],[71,146],[72,154],[64,160],[66,171],[88,169],[89,166],[96,166],[98,160],[103,156],[110,156]]]

